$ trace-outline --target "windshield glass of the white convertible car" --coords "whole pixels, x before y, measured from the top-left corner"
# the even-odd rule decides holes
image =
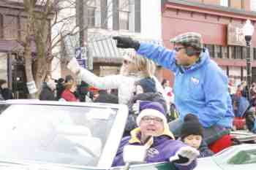
[[[116,109],[0,104],[0,157],[96,166]]]

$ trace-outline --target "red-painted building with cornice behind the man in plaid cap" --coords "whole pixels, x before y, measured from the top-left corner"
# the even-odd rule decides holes
[[[255,26],[256,12],[249,0],[190,0],[162,1],[162,39],[169,40],[187,31],[203,36],[211,58],[236,82],[246,80],[246,47],[241,31],[247,19]],[[252,82],[256,82],[256,34],[252,36]],[[164,71],[172,80],[173,74]]]

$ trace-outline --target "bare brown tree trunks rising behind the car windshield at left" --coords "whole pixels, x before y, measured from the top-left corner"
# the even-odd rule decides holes
[[[50,72],[51,61],[53,60],[52,50],[56,47],[63,36],[56,34],[52,36],[52,29],[59,27],[59,32],[75,20],[75,12],[70,16],[60,17],[64,10],[75,10],[74,0],[4,0],[7,4],[15,4],[20,9],[16,12],[16,18],[20,22],[18,26],[17,41],[23,46],[19,53],[23,53],[25,59],[26,80],[30,97],[37,98],[42,81]],[[25,15],[24,15],[25,14]],[[24,17],[25,16],[25,17]],[[11,22],[16,22],[10,21]],[[61,24],[60,24],[61,23]],[[75,23],[75,22],[73,22]],[[10,24],[11,29],[14,24]],[[59,26],[57,26],[59,25]],[[57,27],[56,27],[57,26]],[[69,34],[77,26],[72,24]],[[8,26],[7,26],[8,27]],[[12,30],[17,31],[17,30]],[[36,53],[32,51],[36,49]],[[14,51],[14,50],[12,50]],[[39,90],[37,90],[39,89]]]

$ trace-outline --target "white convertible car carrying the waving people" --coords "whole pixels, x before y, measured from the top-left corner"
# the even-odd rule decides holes
[[[127,115],[121,104],[0,101],[0,170],[175,170],[172,163],[111,168]],[[256,144],[230,147],[197,162],[197,170],[252,170]]]

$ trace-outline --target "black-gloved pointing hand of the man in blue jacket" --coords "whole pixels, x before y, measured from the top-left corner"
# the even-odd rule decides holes
[[[130,37],[113,36],[113,39],[116,39],[116,47],[118,48],[134,48],[135,50],[138,50],[140,47],[140,42],[135,41]]]

